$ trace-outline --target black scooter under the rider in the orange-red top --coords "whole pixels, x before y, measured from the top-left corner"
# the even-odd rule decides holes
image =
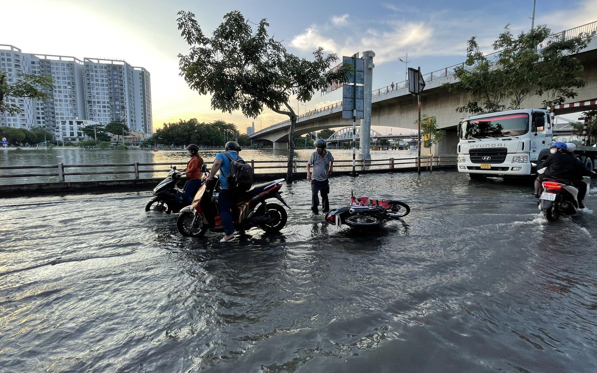
[[[145,205],[145,211],[159,211],[165,212],[166,214],[170,214],[174,212],[180,212],[180,210],[184,206],[188,206],[190,202],[187,201],[186,198],[183,196],[183,190],[177,187],[177,184],[180,181],[180,171],[177,171],[176,166],[171,166],[171,170],[168,172],[168,176],[162,180],[158,186],[153,188],[153,195],[147,205]],[[202,165],[201,172],[205,174],[208,172],[207,165]],[[197,187],[199,189],[201,185]],[[193,190],[193,195],[196,193],[196,190]]]

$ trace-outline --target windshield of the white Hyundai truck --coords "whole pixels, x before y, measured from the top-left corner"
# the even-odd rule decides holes
[[[528,114],[509,114],[462,122],[461,138],[519,136],[528,132]]]

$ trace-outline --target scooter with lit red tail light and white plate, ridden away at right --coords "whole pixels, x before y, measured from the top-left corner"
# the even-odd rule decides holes
[[[584,197],[589,195],[591,178],[583,177],[584,183],[587,183],[587,192]],[[543,193],[540,196],[539,209],[548,221],[556,221],[560,215],[574,215],[578,209],[578,189],[571,181],[560,180],[556,178],[543,181]]]

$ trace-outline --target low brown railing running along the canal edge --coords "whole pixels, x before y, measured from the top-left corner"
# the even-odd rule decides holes
[[[410,162],[396,162],[396,161],[410,161]],[[381,162],[381,163],[380,163]],[[418,162],[418,157],[415,158],[386,158],[386,159],[371,159],[370,161],[358,161],[356,162],[358,169],[379,169],[380,172],[396,168],[396,165],[413,165],[416,166]],[[288,162],[287,161],[254,161],[251,159],[248,164],[253,167],[253,169],[287,169]],[[307,161],[294,161],[293,168],[294,172],[298,172],[298,169],[306,168]],[[349,164],[346,164],[349,163]],[[456,156],[426,156],[421,157],[420,159],[421,167],[433,167],[434,165],[452,165],[456,164]],[[0,170],[3,169],[56,169],[56,172],[30,172],[30,173],[20,173],[20,174],[3,174],[0,175],[0,178],[18,178],[18,177],[58,177],[58,182],[63,183],[67,176],[75,176],[75,175],[113,175],[113,174],[134,174],[134,179],[139,179],[140,174],[143,173],[161,173],[161,172],[170,172],[170,168],[165,169],[141,169],[140,167],[147,167],[147,166],[164,166],[164,165],[186,165],[187,162],[159,162],[159,163],[141,163],[141,162],[134,162],[134,163],[122,163],[122,164],[80,164],[80,165],[65,165],[63,163],[59,163],[57,165],[23,165],[23,166],[0,166]],[[205,164],[213,164],[213,162],[205,162]],[[267,164],[261,166],[260,164]],[[276,165],[270,165],[276,164]],[[68,168],[88,168],[88,167],[96,167],[96,168],[106,168],[106,167],[115,167],[115,168],[128,168],[119,171],[77,171],[77,172],[67,172]],[[352,167],[352,159],[343,159],[334,161],[334,168],[342,168],[342,167]],[[381,168],[377,168],[381,167]],[[132,168],[132,169],[131,169]],[[261,172],[258,172],[261,173]],[[90,180],[90,181],[97,181],[102,179]]]

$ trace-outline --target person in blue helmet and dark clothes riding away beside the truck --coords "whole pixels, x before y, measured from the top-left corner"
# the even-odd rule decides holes
[[[543,174],[535,180],[535,195],[537,198],[541,195],[542,182],[546,178],[559,178],[568,180],[578,189],[578,207],[584,208],[583,199],[587,192],[587,184],[582,181],[583,176],[595,174],[584,164],[574,157],[572,152],[568,152],[568,146],[560,141],[553,143],[550,149],[552,153],[543,162]]]

